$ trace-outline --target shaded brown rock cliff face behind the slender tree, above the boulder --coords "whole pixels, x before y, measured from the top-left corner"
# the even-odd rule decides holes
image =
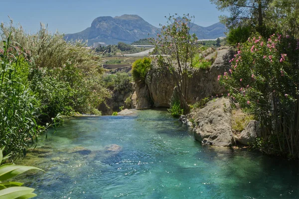
[[[217,57],[210,69],[194,69],[192,77],[188,81],[188,103],[193,104],[205,97],[225,92],[224,87],[219,85],[217,78],[219,74],[229,70],[229,60],[233,56],[233,51],[221,49],[215,54]],[[174,74],[153,63],[152,69],[147,74],[145,86],[139,92],[136,92],[139,102],[138,108],[145,108],[150,105],[153,107],[169,107],[175,86]],[[148,88],[149,94],[144,90],[146,88]]]

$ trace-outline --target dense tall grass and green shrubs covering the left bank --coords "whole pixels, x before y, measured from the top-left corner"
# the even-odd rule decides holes
[[[0,28],[0,146],[16,159],[57,115],[100,114],[110,92],[101,57],[80,42],[68,43],[43,25],[36,34],[12,21]]]

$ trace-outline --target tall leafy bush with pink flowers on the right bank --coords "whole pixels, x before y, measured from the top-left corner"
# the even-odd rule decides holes
[[[265,151],[292,157],[299,155],[298,43],[281,34],[249,38],[238,46],[229,71],[218,76],[228,95],[261,122]]]

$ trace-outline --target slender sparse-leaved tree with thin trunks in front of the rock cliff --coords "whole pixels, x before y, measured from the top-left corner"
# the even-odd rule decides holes
[[[178,17],[177,14],[170,15],[157,37],[150,39],[151,43],[155,45],[155,52],[167,55],[165,56],[167,68],[174,74],[180,104],[185,113],[189,111],[187,104],[188,77],[192,73],[197,49],[197,37],[190,32],[192,18],[194,16],[189,14],[184,14],[183,17]]]

